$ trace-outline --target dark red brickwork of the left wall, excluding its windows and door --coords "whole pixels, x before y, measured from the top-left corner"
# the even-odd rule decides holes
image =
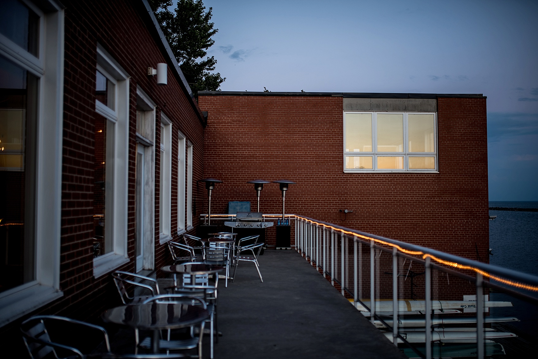
[[[137,85],[157,104],[155,158],[155,268],[169,263],[167,247],[159,245],[160,113],[172,120],[172,178],[177,176],[178,130],[194,145],[194,178],[203,175],[203,126],[179,83],[168,70],[168,85],[158,86],[147,67],[166,62],[143,20],[129,1],[69,1],[65,9],[65,79],[63,104],[62,212],[60,289],[63,297],[31,314],[59,314],[95,320],[105,308],[121,303],[110,275],[93,277],[95,71],[97,43],[126,70],[130,77],[128,254],[122,270],[134,271],[134,186],[136,160]],[[175,162],[175,163],[174,163]],[[174,188],[175,186],[175,188]],[[176,182],[172,196],[177,198]],[[202,202],[194,191],[193,202]],[[194,216],[196,225],[196,216]],[[172,232],[177,226],[177,200],[172,206]],[[30,314],[30,315],[31,315]],[[24,318],[29,317],[26,315]],[[20,321],[2,328],[15,333]],[[22,341],[20,341],[22,344]]]

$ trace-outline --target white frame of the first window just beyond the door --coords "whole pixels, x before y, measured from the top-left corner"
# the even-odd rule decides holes
[[[162,245],[172,239],[172,121],[164,113],[161,113],[160,151],[164,156],[164,168],[161,166],[159,176],[159,243]]]

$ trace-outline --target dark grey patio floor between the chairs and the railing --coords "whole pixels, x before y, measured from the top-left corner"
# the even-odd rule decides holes
[[[216,359],[406,358],[297,252],[259,262],[264,283],[242,262],[235,283],[218,285]]]

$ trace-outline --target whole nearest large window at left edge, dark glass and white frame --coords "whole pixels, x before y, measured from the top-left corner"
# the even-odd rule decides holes
[[[43,9],[40,6],[44,6]],[[63,11],[0,11],[0,326],[62,296]]]

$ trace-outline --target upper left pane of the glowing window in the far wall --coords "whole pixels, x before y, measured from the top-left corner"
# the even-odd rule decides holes
[[[372,114],[345,114],[346,152],[372,152]]]

